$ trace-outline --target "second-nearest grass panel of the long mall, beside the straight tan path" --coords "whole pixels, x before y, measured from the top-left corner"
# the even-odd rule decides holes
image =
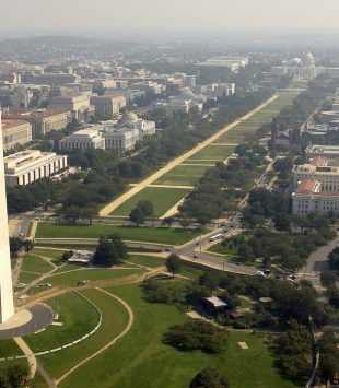
[[[210,167],[206,165],[178,165],[171,169],[167,174],[160,177],[154,184],[195,186],[208,168]]]

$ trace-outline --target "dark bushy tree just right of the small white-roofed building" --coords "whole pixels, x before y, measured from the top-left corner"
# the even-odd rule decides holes
[[[127,257],[127,246],[119,235],[114,234],[108,238],[101,237],[93,261],[96,266],[112,267],[126,260]]]

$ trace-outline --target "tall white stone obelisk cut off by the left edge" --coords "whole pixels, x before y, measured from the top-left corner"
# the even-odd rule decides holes
[[[14,315],[0,108],[0,324]]]

